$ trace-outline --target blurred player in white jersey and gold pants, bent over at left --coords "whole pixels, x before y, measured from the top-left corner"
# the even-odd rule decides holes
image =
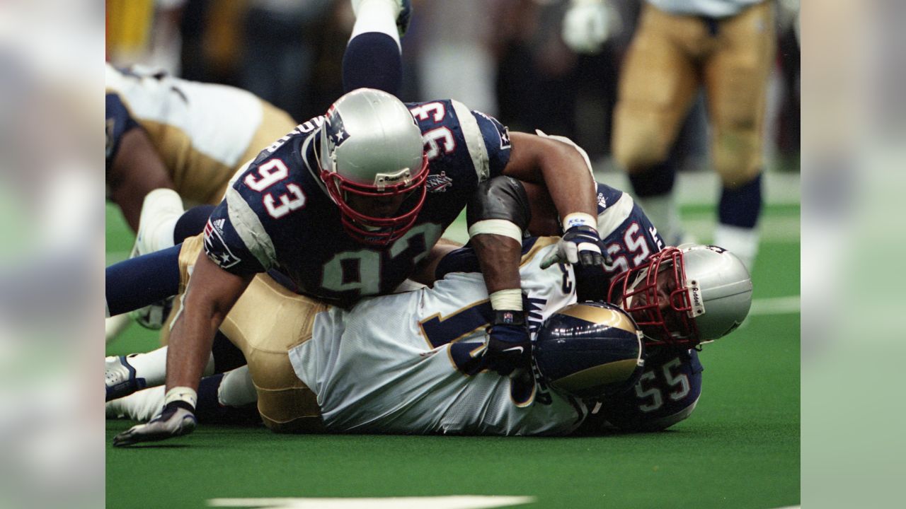
[[[140,66],[108,63],[105,85],[108,197],[136,232],[149,192],[175,191],[149,197],[145,208],[159,221],[162,213],[172,221],[182,214],[179,198],[187,207],[215,205],[238,168],[296,125],[247,91]],[[150,238],[140,238],[148,244],[142,252],[172,245],[143,233]]]

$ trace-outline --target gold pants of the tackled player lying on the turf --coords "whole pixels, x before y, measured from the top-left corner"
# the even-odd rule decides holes
[[[204,235],[186,239],[179,252],[180,294],[189,267],[201,253]],[[328,306],[290,292],[258,274],[226,315],[220,331],[246,356],[258,393],[258,412],[278,433],[323,431],[317,396],[295,375],[288,352],[312,339],[314,317]]]

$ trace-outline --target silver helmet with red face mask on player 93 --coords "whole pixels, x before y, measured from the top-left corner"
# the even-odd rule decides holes
[[[428,158],[421,130],[402,101],[373,89],[343,95],[324,116],[318,154],[321,178],[347,233],[368,244],[388,244],[415,223],[425,202]],[[395,214],[377,216],[350,206],[351,195],[405,199]]]

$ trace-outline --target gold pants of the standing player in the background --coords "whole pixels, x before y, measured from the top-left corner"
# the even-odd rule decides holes
[[[703,86],[711,158],[724,186],[756,178],[775,44],[770,2],[711,21],[646,3],[622,65],[614,157],[631,173],[663,162]]]

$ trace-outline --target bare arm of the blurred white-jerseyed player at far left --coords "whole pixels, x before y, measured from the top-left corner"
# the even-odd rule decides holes
[[[120,150],[116,153],[107,176],[110,197],[120,206],[123,216],[133,231],[139,230],[141,204],[153,189],[174,188],[157,149],[141,128],[122,135]]]

